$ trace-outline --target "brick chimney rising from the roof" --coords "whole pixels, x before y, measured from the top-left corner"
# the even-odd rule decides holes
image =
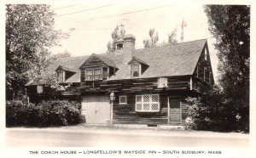
[[[123,37],[124,44],[123,44],[123,62],[126,65],[129,61],[131,61],[132,57],[134,56],[135,51],[135,37],[131,34],[127,34]]]

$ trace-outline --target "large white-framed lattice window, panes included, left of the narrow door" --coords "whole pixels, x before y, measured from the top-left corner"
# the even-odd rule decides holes
[[[157,112],[160,110],[159,94],[145,94],[136,96],[136,111]]]

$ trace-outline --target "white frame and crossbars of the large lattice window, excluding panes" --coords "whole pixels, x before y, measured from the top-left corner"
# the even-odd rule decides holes
[[[149,96],[149,101],[148,102],[144,102],[144,96]],[[157,96],[158,98],[158,102],[152,101],[152,96]],[[142,100],[140,102],[137,101],[137,97],[141,97]],[[136,95],[135,98],[135,111],[136,112],[159,112],[160,111],[160,95],[159,94],[143,94],[143,95]],[[137,110],[137,104],[141,104],[142,109],[141,110]],[[144,104],[149,104],[149,110],[144,110]],[[157,110],[152,110],[152,105],[153,104],[157,104]]]

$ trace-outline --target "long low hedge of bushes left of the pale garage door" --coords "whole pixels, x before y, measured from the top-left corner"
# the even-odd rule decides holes
[[[27,104],[21,100],[7,101],[7,126],[67,126],[84,122],[80,104],[65,100]]]

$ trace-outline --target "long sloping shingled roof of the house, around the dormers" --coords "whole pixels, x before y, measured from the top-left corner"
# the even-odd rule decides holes
[[[154,48],[135,49],[133,53],[135,59],[148,65],[147,70],[143,72],[142,76],[137,78],[191,76],[206,44],[207,40],[202,39]],[[106,65],[118,68],[118,71],[109,80],[131,79],[131,65],[123,63],[123,54],[106,53],[92,55],[101,59]],[[59,59],[49,66],[48,71],[55,71],[59,65],[65,66],[77,71],[66,82],[80,82],[79,68],[90,56]]]

